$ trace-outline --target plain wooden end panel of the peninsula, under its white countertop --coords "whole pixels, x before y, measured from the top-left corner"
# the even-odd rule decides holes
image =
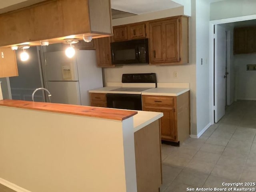
[[[159,192],[162,184],[159,120],[134,133],[138,192]]]

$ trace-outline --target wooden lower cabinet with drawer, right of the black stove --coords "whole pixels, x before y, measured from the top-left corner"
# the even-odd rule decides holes
[[[182,143],[190,134],[190,93],[179,96],[142,95],[144,111],[162,112],[161,139]]]

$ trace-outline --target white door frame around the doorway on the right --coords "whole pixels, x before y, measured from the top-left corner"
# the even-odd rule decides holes
[[[209,48],[209,70],[210,70],[210,75],[209,75],[209,87],[210,87],[210,123],[214,124],[214,25],[217,24],[224,24],[224,23],[232,23],[232,22],[238,22],[238,21],[245,21],[245,20],[253,20],[256,19],[256,14],[255,15],[248,15],[248,16],[241,16],[241,17],[234,17],[234,18],[227,18],[227,19],[220,19],[220,20],[212,20],[209,23],[209,43],[210,43],[210,48]],[[216,93],[215,93],[216,94]]]

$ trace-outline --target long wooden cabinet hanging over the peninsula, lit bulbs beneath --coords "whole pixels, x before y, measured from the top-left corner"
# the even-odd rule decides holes
[[[112,35],[110,0],[48,0],[0,14],[0,47]]]

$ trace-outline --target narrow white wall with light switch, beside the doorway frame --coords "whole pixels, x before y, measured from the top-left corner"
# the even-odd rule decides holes
[[[196,7],[196,117],[197,134],[199,134],[204,131],[204,128],[210,126],[210,4],[205,0],[193,0],[192,10],[194,10],[194,7]]]

